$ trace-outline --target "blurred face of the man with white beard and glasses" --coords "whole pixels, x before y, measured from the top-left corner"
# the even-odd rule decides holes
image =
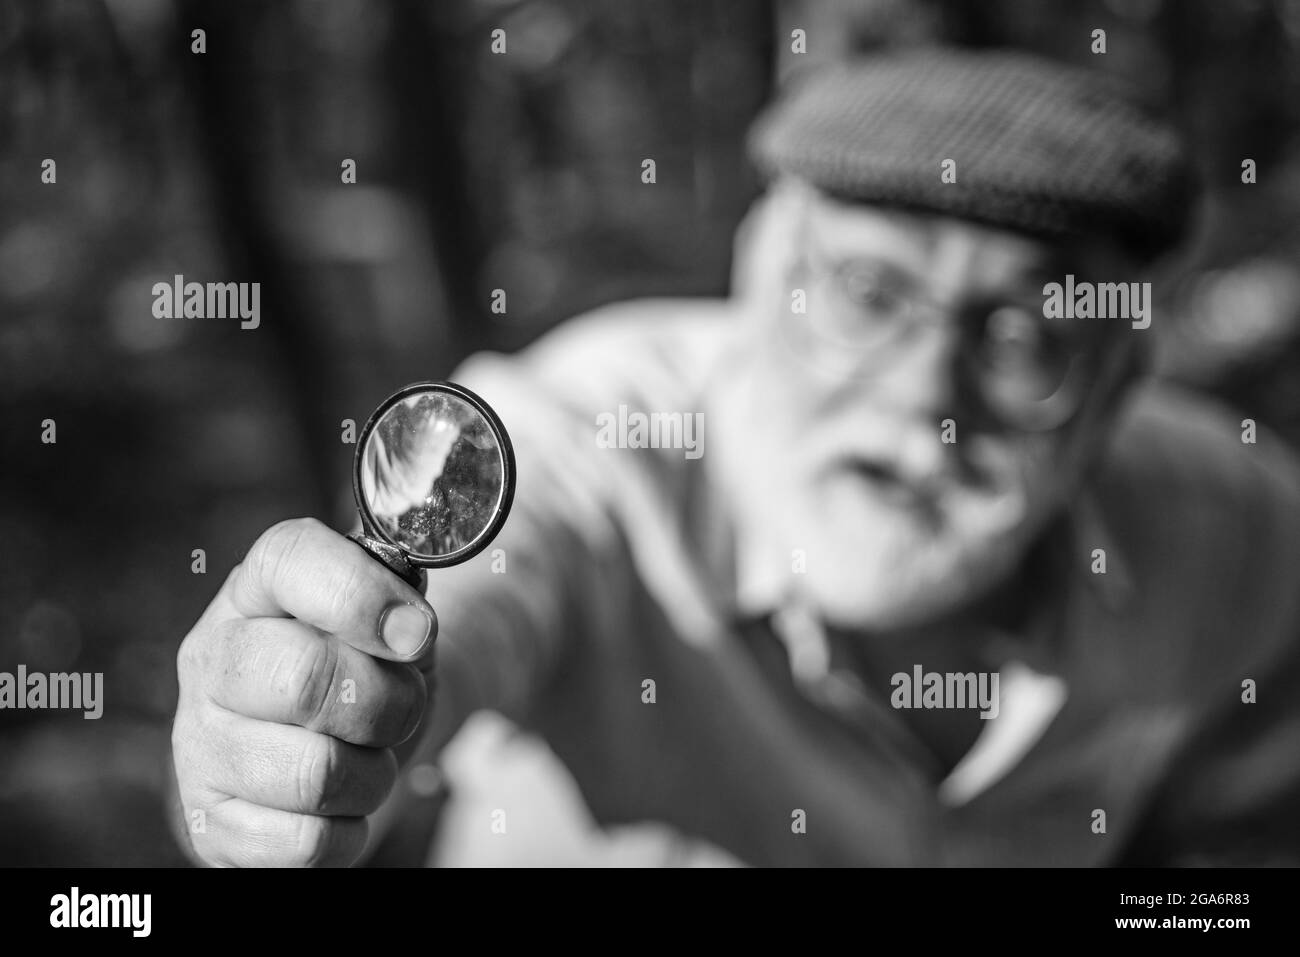
[[[1050,322],[1043,286],[1135,267],[806,191],[766,218],[715,408],[742,573],[845,627],[979,597],[1076,482],[1141,334]]]

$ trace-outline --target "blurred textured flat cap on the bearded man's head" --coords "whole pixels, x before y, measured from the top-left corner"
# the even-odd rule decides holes
[[[845,199],[1152,257],[1196,179],[1174,131],[1106,75],[1010,51],[919,48],[826,68],[759,117],[750,155]],[[956,161],[957,181],[940,178]]]

